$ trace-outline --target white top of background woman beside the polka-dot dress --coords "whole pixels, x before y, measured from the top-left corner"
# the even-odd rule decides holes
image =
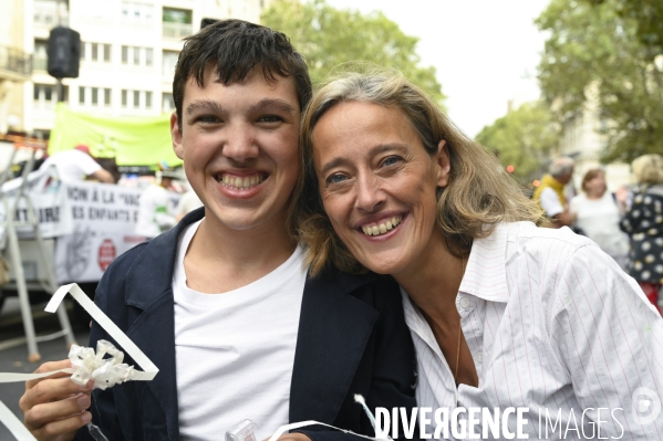
[[[619,228],[620,213],[610,191],[600,199],[588,199],[578,195],[571,199],[571,212],[576,224],[597,242],[621,267],[625,267],[629,254],[629,237]]]

